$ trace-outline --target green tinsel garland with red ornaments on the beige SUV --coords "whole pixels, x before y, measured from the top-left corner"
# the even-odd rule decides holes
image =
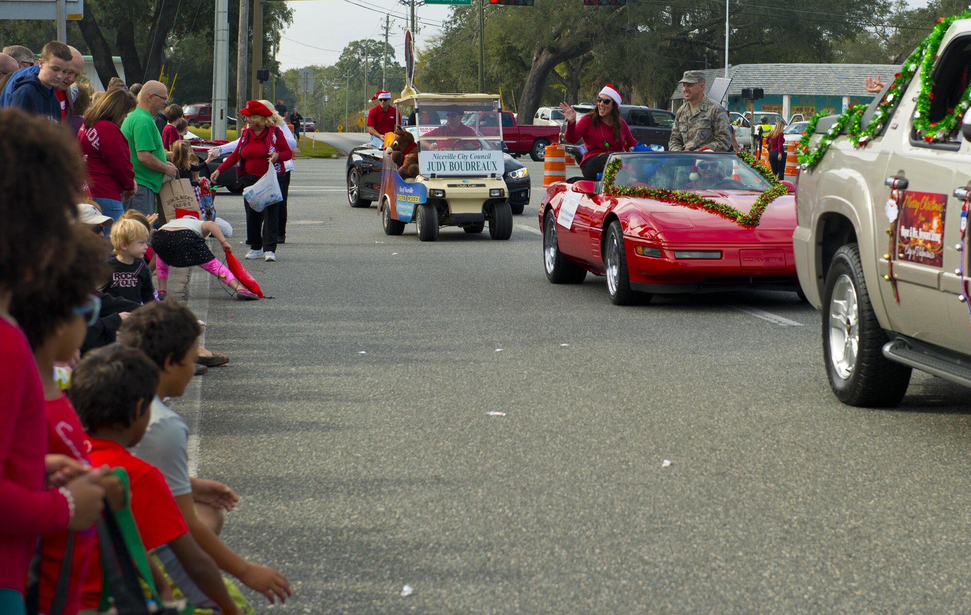
[[[809,126],[806,128],[806,132],[802,133],[799,145],[796,146],[799,165],[802,170],[811,171],[816,168],[820,164],[820,160],[826,152],[826,149],[832,145],[833,141],[843,132],[844,128],[847,129],[847,136],[855,147],[865,146],[872,140],[874,135],[884,129],[887,118],[900,103],[900,97],[910,85],[911,80],[914,79],[919,65],[921,66],[921,89],[916,98],[914,128],[918,135],[927,143],[935,141],[944,142],[950,139],[954,131],[960,126],[961,117],[964,115],[964,112],[971,107],[971,85],[968,86],[967,90],[961,96],[959,103],[954,107],[954,113],[943,117],[937,122],[931,122],[929,120],[930,102],[934,99],[934,93],[932,91],[934,81],[931,79],[931,73],[933,71],[934,61],[937,59],[937,51],[941,48],[941,40],[947,33],[948,28],[951,27],[951,24],[955,20],[967,19],[969,17],[971,17],[971,11],[965,11],[958,16],[941,17],[937,20],[937,25],[934,26],[934,30],[900,66],[900,72],[893,76],[894,80],[890,83],[887,94],[884,95],[880,104],[877,105],[873,118],[867,124],[866,128],[860,128],[866,106],[857,105],[851,107],[840,114],[833,123],[833,126],[826,131],[825,136],[822,137],[816,148],[810,151],[809,142],[813,137],[813,133],[816,132],[816,124],[825,113],[817,113],[814,115],[809,122]]]

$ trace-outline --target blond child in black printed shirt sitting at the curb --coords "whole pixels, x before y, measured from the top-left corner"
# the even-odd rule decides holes
[[[108,262],[112,276],[105,292],[128,301],[148,304],[155,300],[149,264],[145,253],[149,249],[149,231],[138,220],[123,219],[112,230],[115,256]]]

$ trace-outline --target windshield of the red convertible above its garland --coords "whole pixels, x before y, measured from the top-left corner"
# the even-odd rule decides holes
[[[614,185],[662,190],[768,190],[769,182],[733,153],[624,154]]]

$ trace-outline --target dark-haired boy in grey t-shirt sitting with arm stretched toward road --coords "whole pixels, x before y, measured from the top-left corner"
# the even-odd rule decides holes
[[[132,452],[165,475],[189,531],[220,568],[266,596],[271,603],[277,598],[284,602],[290,594],[290,587],[283,574],[273,568],[247,562],[219,540],[217,534],[222,526],[222,510],[231,510],[239,498],[226,485],[189,477],[188,426],[179,414],[162,402],[164,398],[184,394],[192,378],[195,344],[200,334],[195,314],[176,302],[142,308],[121,327],[121,342],[145,352],[159,370],[158,390],[151,402],[149,428]],[[190,602],[197,607],[212,606],[210,600],[186,577],[170,549],[159,547],[155,555]]]

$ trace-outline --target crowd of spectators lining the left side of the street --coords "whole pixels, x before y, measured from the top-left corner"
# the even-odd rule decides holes
[[[0,157],[14,171],[0,177],[0,613],[87,614],[131,599],[111,580],[118,553],[148,563],[136,567],[151,598],[137,599],[150,603],[251,613],[229,577],[284,601],[283,574],[219,537],[239,498],[189,475],[188,428],[168,406],[228,359],[199,344],[204,325],[155,290],[152,272],[164,288],[170,267],[198,265],[257,298],[205,240],[231,252],[224,222],[156,228],[162,181],[199,180],[191,147],[173,137],[182,110],[166,107],[158,81],[99,93],[76,83],[84,60],[63,43],[34,60],[22,47],[0,53]],[[274,114],[255,136],[277,140],[264,171],[292,139],[267,141]],[[124,519],[139,540],[111,531]]]

